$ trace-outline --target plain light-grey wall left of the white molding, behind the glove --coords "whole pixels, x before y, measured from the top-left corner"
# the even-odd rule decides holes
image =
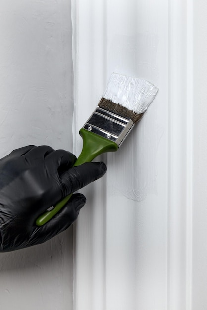
[[[2,0],[0,157],[27,144],[72,150],[71,4]],[[0,254],[0,309],[73,306],[72,228],[43,245]]]

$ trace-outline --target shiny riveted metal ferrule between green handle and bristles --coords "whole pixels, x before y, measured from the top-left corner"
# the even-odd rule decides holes
[[[133,127],[134,123],[131,119],[114,114],[99,106],[83,126],[84,129],[114,141],[118,147]]]

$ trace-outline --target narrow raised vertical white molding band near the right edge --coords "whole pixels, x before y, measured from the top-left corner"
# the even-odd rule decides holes
[[[191,309],[192,1],[169,1],[168,310]]]

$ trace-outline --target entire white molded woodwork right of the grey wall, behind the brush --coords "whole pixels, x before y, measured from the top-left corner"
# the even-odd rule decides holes
[[[159,88],[120,150],[101,157],[106,176],[85,189],[75,309],[206,309],[206,1],[72,4],[77,154],[112,72]]]

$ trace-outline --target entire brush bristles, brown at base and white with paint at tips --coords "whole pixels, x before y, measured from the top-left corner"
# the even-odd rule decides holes
[[[149,81],[113,73],[99,106],[134,119],[136,123],[152,103],[157,92],[158,88]]]

